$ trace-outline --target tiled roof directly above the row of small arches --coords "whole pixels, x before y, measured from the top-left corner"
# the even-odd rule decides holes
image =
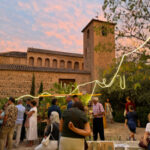
[[[62,55],[62,56],[71,56],[71,57],[80,57],[80,58],[83,58],[83,54],[67,53],[67,52],[45,50],[45,49],[38,49],[38,48],[28,48],[28,52],[45,53],[45,54],[54,54],[54,55]]]

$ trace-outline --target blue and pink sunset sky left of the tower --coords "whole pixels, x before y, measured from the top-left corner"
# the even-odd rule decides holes
[[[105,20],[103,0],[1,0],[0,52],[28,47],[82,53],[81,30]]]

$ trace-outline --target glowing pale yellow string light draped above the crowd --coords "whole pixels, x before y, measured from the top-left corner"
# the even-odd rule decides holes
[[[131,55],[131,54],[137,52],[139,49],[141,49],[142,47],[144,47],[145,44],[147,44],[147,42],[148,42],[149,40],[150,40],[150,37],[149,37],[145,42],[143,42],[143,44],[141,44],[138,48],[136,48],[136,49],[134,49],[133,51],[128,52],[128,53],[126,53],[126,54],[124,54],[124,55],[122,56],[121,61],[120,61],[119,65],[118,65],[117,71],[116,71],[116,73],[114,74],[114,76],[112,77],[111,81],[110,81],[108,84],[106,83],[106,81],[107,81],[106,78],[103,78],[103,79],[102,79],[102,82],[100,82],[99,80],[94,80],[94,81],[86,82],[86,83],[83,83],[83,84],[78,85],[78,86],[77,86],[70,94],[68,94],[68,95],[73,94],[76,90],[79,90],[80,87],[83,87],[83,86],[86,86],[86,85],[89,85],[89,84],[94,84],[94,87],[93,87],[93,90],[92,90],[92,94],[91,94],[91,96],[90,96],[90,98],[89,98],[89,100],[90,100],[91,97],[93,96],[94,92],[95,92],[95,89],[96,89],[96,86],[97,86],[97,85],[98,85],[100,88],[108,88],[108,87],[111,87],[111,86],[113,85],[114,81],[116,80],[116,78],[119,78],[119,80],[120,80],[120,88],[121,88],[121,89],[125,89],[125,88],[126,88],[125,76],[123,75],[123,77],[121,77],[121,76],[119,75],[119,71],[120,71],[121,65],[122,65],[122,63],[123,63],[123,61],[124,61],[124,59],[125,59],[126,56],[129,56],[129,55]],[[32,95],[23,95],[23,96],[18,97],[16,100],[19,100],[19,99],[24,98],[24,97],[39,98],[39,97],[44,96],[45,94],[46,94],[46,95],[51,95],[51,94],[48,93],[48,92],[44,92],[44,93],[42,93],[41,95],[39,95],[39,96],[37,96],[37,97],[32,96]],[[56,96],[56,97],[65,97],[65,96]]]

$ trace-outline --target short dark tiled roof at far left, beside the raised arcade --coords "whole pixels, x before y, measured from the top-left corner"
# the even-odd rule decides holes
[[[6,57],[23,57],[23,58],[26,58],[27,57],[27,53],[26,52],[12,51],[12,52],[0,53],[0,56],[6,56]]]

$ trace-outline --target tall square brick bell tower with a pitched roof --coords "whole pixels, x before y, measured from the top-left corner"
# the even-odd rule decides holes
[[[91,80],[100,79],[115,58],[115,24],[92,19],[82,30],[84,69],[91,72]]]

